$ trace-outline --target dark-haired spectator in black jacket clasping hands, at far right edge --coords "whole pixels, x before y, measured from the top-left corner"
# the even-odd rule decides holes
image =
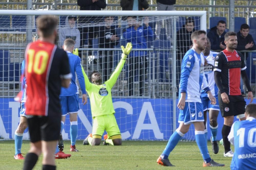
[[[240,31],[237,33],[237,51],[256,50],[254,40],[249,31],[250,27],[248,24],[241,25]],[[245,57],[248,57],[248,53],[245,53]]]

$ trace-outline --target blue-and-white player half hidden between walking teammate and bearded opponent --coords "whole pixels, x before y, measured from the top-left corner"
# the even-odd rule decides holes
[[[212,152],[217,154],[219,152],[219,146],[217,143],[217,132],[218,132],[218,123],[217,118],[219,115],[220,107],[218,101],[218,87],[214,81],[214,59],[217,56],[217,52],[211,51],[211,43],[209,38],[207,38],[207,46],[205,50],[203,50],[203,54],[205,57],[205,77],[208,82],[209,88],[211,90],[211,94],[216,98],[216,104],[211,104],[207,93],[202,90],[201,91],[201,99],[204,107],[204,124],[205,124],[205,138],[207,141],[207,111],[209,111],[209,120],[210,120],[210,130],[211,130],[211,146]]]

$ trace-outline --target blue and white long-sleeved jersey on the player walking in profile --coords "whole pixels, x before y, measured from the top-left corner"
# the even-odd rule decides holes
[[[179,98],[180,93],[185,92],[186,102],[202,103],[201,88],[206,91],[210,90],[204,73],[204,55],[203,53],[197,54],[194,48],[191,48],[182,60]]]

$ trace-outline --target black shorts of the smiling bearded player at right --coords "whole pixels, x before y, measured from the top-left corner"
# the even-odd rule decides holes
[[[221,94],[218,94],[220,112],[222,117],[244,114],[246,102],[242,95],[228,95],[229,103],[224,103]]]

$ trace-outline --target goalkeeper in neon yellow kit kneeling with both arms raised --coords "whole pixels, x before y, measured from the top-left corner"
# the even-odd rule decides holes
[[[132,50],[132,44],[127,43],[124,48],[121,46],[122,59],[112,73],[109,80],[102,83],[102,76],[98,71],[93,71],[90,75],[90,83],[84,70],[84,81],[86,91],[90,97],[91,112],[93,118],[92,133],[83,141],[83,145],[100,145],[104,130],[108,133],[104,135],[103,145],[122,145],[122,137],[114,116],[115,110],[112,103],[111,89],[114,86],[123,66],[127,55]]]

